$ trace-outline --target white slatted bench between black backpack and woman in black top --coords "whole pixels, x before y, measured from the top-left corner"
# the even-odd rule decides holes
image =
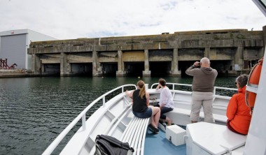
[[[130,147],[134,148],[134,154],[144,154],[144,143],[149,121],[150,118],[141,119],[134,116],[120,139],[122,142],[128,142]]]

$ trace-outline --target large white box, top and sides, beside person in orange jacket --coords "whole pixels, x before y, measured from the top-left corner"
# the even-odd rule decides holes
[[[243,154],[235,150],[246,143],[246,135],[234,133],[227,126],[199,122],[186,127],[186,153],[190,154]]]

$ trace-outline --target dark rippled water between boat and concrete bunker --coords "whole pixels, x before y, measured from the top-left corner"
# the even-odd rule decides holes
[[[158,79],[141,78],[149,84]],[[186,84],[193,80],[191,77],[165,79]],[[137,77],[0,78],[0,154],[41,154],[94,99],[122,84],[136,84],[138,80]],[[216,86],[235,88],[234,82],[235,77],[219,77]],[[53,154],[59,154],[79,127],[80,123]]]

